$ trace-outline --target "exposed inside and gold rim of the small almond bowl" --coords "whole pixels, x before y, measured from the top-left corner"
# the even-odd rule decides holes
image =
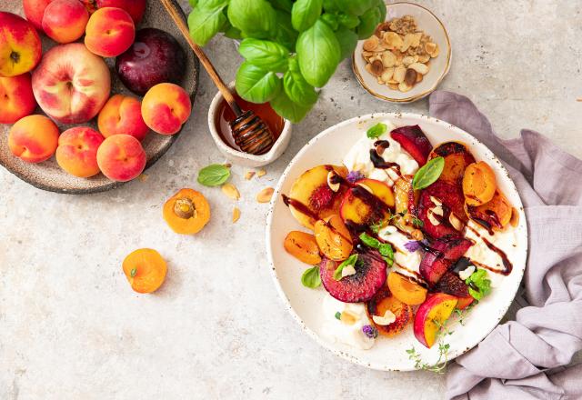
[[[362,85],[370,95],[394,103],[412,103],[426,95],[430,95],[442,82],[448,73],[451,65],[452,48],[448,38],[445,25],[431,11],[422,5],[413,3],[390,3],[386,4],[386,21],[393,18],[412,15],[416,20],[418,29],[429,35],[439,49],[439,55],[431,58],[429,71],[424,75],[423,80],[417,83],[408,92],[394,90],[387,85],[377,82],[375,75],[366,71],[366,60],[362,57],[364,41],[360,40],[356,45],[354,55],[352,55],[352,67],[354,74],[360,85]]]

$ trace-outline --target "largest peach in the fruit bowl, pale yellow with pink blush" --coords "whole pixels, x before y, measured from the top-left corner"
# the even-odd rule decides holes
[[[58,122],[83,124],[99,113],[111,89],[103,58],[82,43],[56,45],[33,73],[38,105]]]

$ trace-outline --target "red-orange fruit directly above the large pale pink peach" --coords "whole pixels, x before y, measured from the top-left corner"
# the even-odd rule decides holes
[[[89,13],[79,0],[54,0],[45,8],[43,29],[58,43],[71,43],[85,33]]]

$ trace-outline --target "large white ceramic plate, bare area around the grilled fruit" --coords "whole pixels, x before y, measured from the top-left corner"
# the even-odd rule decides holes
[[[347,345],[332,343],[322,335],[322,299],[326,294],[323,287],[316,290],[301,285],[301,275],[308,267],[288,255],[283,241],[289,231],[303,229],[283,203],[281,194],[288,194],[296,178],[306,169],[322,164],[341,165],[348,149],[364,135],[367,128],[378,120],[387,119],[396,126],[420,125],[433,145],[446,141],[460,141],[468,146],[478,160],[487,161],[497,175],[497,185],[507,195],[508,200],[519,211],[517,226],[517,252],[511,259],[513,271],[501,280],[491,295],[473,308],[465,318],[463,326],[458,323],[450,326],[454,333],[447,338],[450,344],[449,359],[461,355],[477,345],[506,314],[516,295],[524,274],[527,260],[527,225],[521,199],[516,186],[507,175],[507,170],[487,147],[456,126],[439,121],[426,115],[414,114],[373,114],[352,118],[332,126],[316,135],[287,166],[276,186],[271,201],[266,225],[266,251],[272,268],[273,278],[279,294],[291,315],[301,328],[317,343],[334,354],[347,360],[378,370],[413,370],[414,362],[408,359],[406,349],[413,345],[423,361],[434,364],[438,359],[437,345],[426,349],[420,345],[408,325],[406,331],[394,338],[380,337],[370,350],[360,350]],[[304,229],[305,230],[305,229]]]

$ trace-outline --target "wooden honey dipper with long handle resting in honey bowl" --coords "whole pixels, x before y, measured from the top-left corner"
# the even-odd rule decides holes
[[[235,113],[236,118],[230,123],[230,129],[232,130],[236,145],[238,145],[245,153],[251,155],[264,155],[275,144],[275,136],[269,127],[258,115],[255,114],[254,111],[248,110],[243,112],[240,106],[236,104],[235,97],[230,93],[230,90],[228,90],[228,87],[226,87],[222,78],[216,72],[214,65],[212,65],[208,57],[206,57],[206,54],[202,51],[200,46],[196,45],[190,37],[188,27],[182,19],[180,11],[176,8],[176,3],[174,3],[173,0],[160,1],[174,20],[174,23],[186,39],[188,45],[190,45],[194,53],[198,56],[200,63],[205,67],[206,72],[210,75],[210,78],[213,80],[216,87],[218,87],[218,90],[225,98],[226,103],[228,103],[233,110],[233,113]]]

